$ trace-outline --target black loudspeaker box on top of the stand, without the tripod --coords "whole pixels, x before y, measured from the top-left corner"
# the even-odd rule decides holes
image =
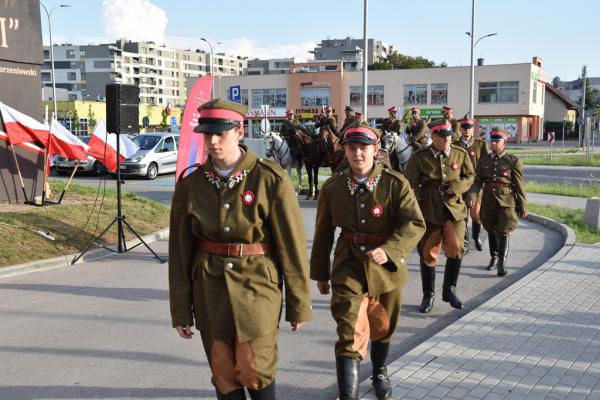
[[[137,133],[140,119],[140,88],[136,85],[106,85],[106,130],[110,133]]]

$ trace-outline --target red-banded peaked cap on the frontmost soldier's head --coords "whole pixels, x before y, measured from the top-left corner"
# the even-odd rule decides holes
[[[214,99],[198,107],[196,133],[221,133],[244,125],[248,107],[224,99]]]

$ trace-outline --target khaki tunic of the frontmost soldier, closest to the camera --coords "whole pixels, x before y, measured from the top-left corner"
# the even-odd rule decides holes
[[[220,179],[209,158],[176,184],[169,238],[173,326],[195,320],[213,339],[235,335],[240,343],[277,330],[283,290],[286,321],[312,317],[306,238],[291,181],[279,165],[244,149],[229,179]],[[225,257],[199,250],[198,240],[268,242],[274,251]]]

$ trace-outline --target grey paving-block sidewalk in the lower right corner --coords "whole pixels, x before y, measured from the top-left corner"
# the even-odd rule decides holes
[[[388,371],[393,399],[600,399],[600,245],[563,248]]]

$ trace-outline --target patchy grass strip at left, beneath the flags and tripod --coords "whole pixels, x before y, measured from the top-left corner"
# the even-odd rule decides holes
[[[50,185],[58,198],[65,183],[51,182]],[[96,193],[95,187],[71,185],[60,205],[3,206],[0,212],[0,267],[80,251],[90,237],[108,226],[117,213],[116,190],[106,189],[104,199],[102,190],[97,200]],[[127,221],[141,235],[169,226],[169,208],[156,201],[123,192],[122,209]],[[56,240],[47,240],[26,228],[48,232]],[[102,241],[115,244],[116,236],[115,224]],[[126,230],[125,239],[133,238],[133,234]]]

